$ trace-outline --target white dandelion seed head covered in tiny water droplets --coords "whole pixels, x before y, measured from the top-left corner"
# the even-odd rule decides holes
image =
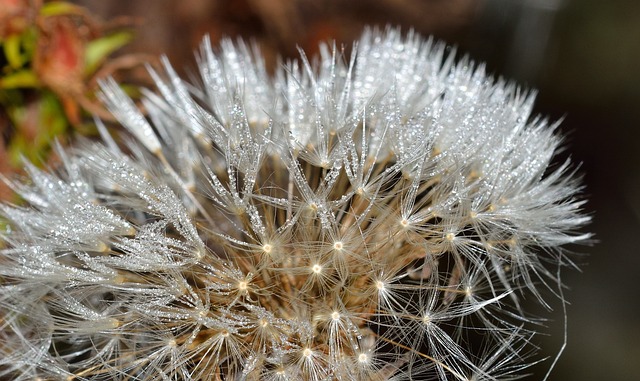
[[[412,32],[269,76],[205,39],[3,205],[0,378],[493,380],[589,218],[534,94]],[[562,299],[562,297],[560,296]],[[564,302],[563,300],[561,300]]]

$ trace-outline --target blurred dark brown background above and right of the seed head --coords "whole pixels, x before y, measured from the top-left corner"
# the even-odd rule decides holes
[[[205,34],[214,44],[224,36],[253,39],[273,68],[278,56],[297,57],[296,46],[308,55],[319,41],[350,46],[365,25],[391,24],[434,35],[456,45],[460,55],[485,62],[488,72],[539,90],[537,113],[563,119],[567,153],[582,163],[587,209],[594,216],[589,230],[598,240],[593,247],[573,248],[586,254],[575,257],[582,271],[564,273],[571,302],[568,346],[549,380],[640,377],[640,1],[73,3],[133,31],[118,56],[139,63],[140,53],[166,54],[183,75],[194,72],[193,52]],[[11,135],[3,134],[5,140]],[[540,338],[551,359],[532,369],[531,380],[544,377],[562,345],[562,308],[554,307],[549,336]]]

